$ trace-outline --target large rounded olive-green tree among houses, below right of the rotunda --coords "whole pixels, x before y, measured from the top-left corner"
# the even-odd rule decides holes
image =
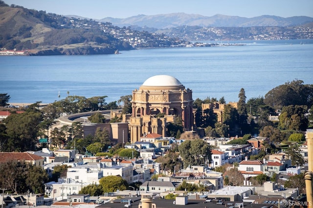
[[[185,140],[179,145],[184,166],[206,165],[211,162],[211,146],[201,139]]]

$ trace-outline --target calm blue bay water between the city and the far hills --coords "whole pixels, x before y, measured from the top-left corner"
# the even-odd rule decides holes
[[[313,40],[253,42],[119,55],[0,56],[0,93],[8,93],[10,103],[51,103],[67,91],[87,98],[106,95],[109,103],[132,94],[149,77],[167,74],[192,89],[194,100],[224,96],[228,103],[238,101],[241,88],[248,100],[295,79],[313,84]]]

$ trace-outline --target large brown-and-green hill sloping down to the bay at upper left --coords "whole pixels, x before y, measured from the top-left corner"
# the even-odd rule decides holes
[[[113,54],[134,49],[128,41],[134,36],[145,40],[138,43],[140,47],[179,44],[161,35],[119,28],[109,22],[67,18],[9,6],[0,0],[2,50],[27,50],[29,55]]]

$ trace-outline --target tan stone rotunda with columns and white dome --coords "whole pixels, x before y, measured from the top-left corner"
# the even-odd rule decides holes
[[[131,143],[149,133],[166,137],[166,125],[174,123],[175,117],[181,117],[184,130],[192,130],[192,109],[192,90],[185,89],[179,80],[168,75],[150,77],[133,90]],[[164,117],[156,117],[160,113]]]

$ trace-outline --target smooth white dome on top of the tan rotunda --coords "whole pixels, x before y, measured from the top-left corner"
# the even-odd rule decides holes
[[[182,86],[178,79],[169,75],[156,75],[148,78],[142,86]]]

